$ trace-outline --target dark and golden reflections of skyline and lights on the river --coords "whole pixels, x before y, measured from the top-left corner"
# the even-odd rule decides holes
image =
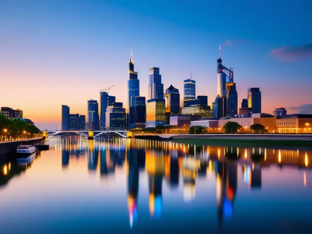
[[[217,225],[235,216],[235,201],[239,197],[239,179],[252,191],[261,191],[263,169],[278,165],[302,169],[301,186],[307,187],[307,173],[311,168],[312,151],[300,149],[237,148],[221,146],[196,146],[173,142],[160,142],[142,139],[99,139],[86,140],[83,137],[55,137],[49,140],[50,151],[61,152],[58,167],[68,171],[72,160],[86,160],[89,173],[109,181],[110,175],[118,173],[117,168],[126,171],[127,210],[129,227],[138,226],[140,201],[147,200],[149,216],[159,220],[163,216],[164,200],[168,193],[183,195],[186,204],[197,200],[197,187],[200,180],[214,178],[216,191]],[[38,155],[40,157],[40,155]],[[36,163],[34,160],[32,163]],[[1,166],[0,186],[8,183],[15,175],[29,169],[32,163],[17,165],[16,159]],[[140,175],[145,181],[139,181]],[[240,174],[240,175],[239,175]],[[208,183],[208,182],[207,182]],[[147,187],[147,193],[139,196],[139,188]],[[243,187],[244,188],[244,187]],[[183,194],[182,194],[183,193]],[[200,199],[200,198],[199,198]],[[141,203],[142,204],[142,203]],[[239,217],[239,216],[237,216]]]

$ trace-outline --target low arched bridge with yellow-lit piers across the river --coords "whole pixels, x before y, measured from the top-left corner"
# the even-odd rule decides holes
[[[127,130],[107,130],[107,131],[89,131],[89,130],[72,130],[72,131],[43,131],[42,135],[48,139],[48,137],[52,137],[57,134],[61,133],[76,133],[80,134],[82,136],[87,137],[89,140],[94,139],[97,136],[100,135],[107,135],[107,134],[116,134],[121,137],[127,138],[127,137],[132,137],[133,133],[131,131]]]

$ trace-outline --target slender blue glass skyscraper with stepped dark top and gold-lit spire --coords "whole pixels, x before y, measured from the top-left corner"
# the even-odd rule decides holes
[[[134,71],[134,61],[132,59],[132,50],[129,62],[129,80],[128,80],[128,123],[127,125],[133,124],[133,118],[130,116],[130,107],[131,107],[131,97],[140,96],[140,81],[138,80],[138,72]]]

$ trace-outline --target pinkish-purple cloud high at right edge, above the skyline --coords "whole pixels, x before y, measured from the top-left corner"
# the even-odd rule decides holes
[[[287,62],[312,58],[312,43],[303,46],[282,46],[271,50],[270,54],[279,60]]]

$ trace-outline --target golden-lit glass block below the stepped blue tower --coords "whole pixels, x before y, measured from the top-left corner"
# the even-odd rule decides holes
[[[155,128],[166,123],[166,101],[161,98],[147,100],[146,127]]]

